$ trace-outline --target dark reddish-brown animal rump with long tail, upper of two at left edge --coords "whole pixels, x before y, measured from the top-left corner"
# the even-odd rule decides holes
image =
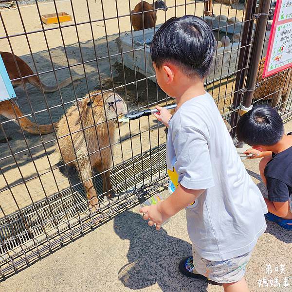
[[[30,83],[30,84],[34,85],[35,87],[37,87],[39,90],[41,90],[43,88],[43,90],[45,92],[55,92],[58,90],[57,85],[50,86],[50,85],[46,85],[46,84],[42,83],[39,80],[38,76],[36,76],[36,74],[32,71],[32,69],[26,64],[26,62],[24,62],[22,59],[20,59],[17,55],[14,55],[14,56],[15,56],[15,59],[17,61],[18,68],[15,64],[13,54],[11,54],[9,52],[0,52],[0,54],[1,54],[1,57],[3,59],[4,65],[5,65],[5,68],[7,70],[8,75],[9,75],[10,80],[20,78],[20,75],[18,73],[18,69],[19,69],[21,77],[30,76],[30,77],[22,79],[24,84]],[[73,76],[72,77],[73,81],[79,80],[81,78],[83,78],[83,77],[82,76]],[[58,83],[59,89],[66,87],[66,86],[70,85],[71,83],[72,83],[71,78],[67,78],[67,79],[63,80],[62,82]],[[13,86],[22,85],[21,79],[12,81],[12,85]]]

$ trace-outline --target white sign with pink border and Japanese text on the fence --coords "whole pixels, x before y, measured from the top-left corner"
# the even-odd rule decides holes
[[[263,78],[292,67],[292,0],[277,0]]]

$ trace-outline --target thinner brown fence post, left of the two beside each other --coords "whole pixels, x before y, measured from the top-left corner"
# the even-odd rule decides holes
[[[231,136],[234,137],[236,133],[235,126],[237,125],[238,120],[238,112],[237,107],[241,103],[242,95],[239,93],[239,90],[243,88],[244,77],[245,77],[245,69],[247,65],[247,57],[249,53],[249,45],[251,44],[252,31],[253,31],[253,15],[256,11],[256,0],[247,0],[246,2],[246,12],[244,18],[244,26],[242,31],[242,39],[240,44],[240,53],[238,58],[237,65],[237,74],[236,74],[236,82],[235,82],[235,90],[233,96],[233,108],[234,111],[231,113],[231,122],[230,125],[232,130],[230,132]]]

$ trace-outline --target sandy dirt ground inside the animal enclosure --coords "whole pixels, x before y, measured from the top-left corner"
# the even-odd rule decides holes
[[[131,0],[131,9],[136,5],[137,1]],[[73,0],[73,10],[75,13],[76,23],[89,21],[89,15],[87,10],[87,5],[85,0]],[[72,102],[75,98],[82,98],[85,96],[88,91],[100,90],[101,88],[104,90],[111,89],[112,87],[117,88],[116,92],[121,94],[121,96],[128,101],[129,110],[137,109],[139,107],[146,106],[147,104],[155,103],[156,101],[161,101],[166,98],[166,95],[163,91],[160,90],[156,86],[156,84],[152,81],[147,82],[144,79],[145,76],[135,73],[128,69],[123,68],[123,66],[118,63],[118,58],[120,56],[116,56],[118,54],[117,44],[115,39],[119,37],[119,28],[120,33],[127,32],[131,29],[130,27],[130,19],[128,0],[119,0],[117,1],[118,5],[118,15],[122,16],[119,18],[119,26],[117,19],[109,19],[104,21],[97,21],[103,19],[101,0],[89,0],[89,9],[91,15],[92,22],[92,32],[91,34],[91,26],[90,24],[82,24],[77,26],[77,33],[74,26],[63,27],[63,39],[64,44],[66,46],[66,51],[64,50],[64,44],[62,41],[60,30],[49,30],[46,31],[45,35],[48,41],[48,47],[52,56],[53,64],[55,69],[63,68],[68,66],[67,58],[69,60],[69,65],[71,66],[72,75],[82,75],[84,78],[75,82],[74,86],[68,86],[60,90],[60,92],[56,91],[54,93],[46,93],[45,97],[50,108],[50,113],[53,119],[53,122],[59,120],[59,118],[64,114],[63,107],[61,105],[61,100],[65,104],[65,108],[72,106]],[[171,7],[176,3],[177,8]],[[184,4],[187,4],[186,6]],[[194,14],[196,9],[196,15],[202,16],[203,14],[203,3],[192,3],[192,1],[185,0],[167,0],[167,6],[169,9],[166,14],[163,11],[159,11],[157,13],[157,24],[163,23],[165,19],[168,19],[172,16],[183,16],[186,14]],[[72,14],[72,6],[71,1],[57,1],[56,2],[57,10],[59,12],[67,12]],[[105,18],[113,18],[117,16],[116,8],[115,8],[115,0],[107,0],[104,1],[104,15]],[[214,3],[214,13],[216,15],[221,14],[228,15],[228,17],[233,17],[237,13],[237,18],[241,19],[243,14],[243,5],[239,4],[239,10],[229,9],[227,5],[220,5],[219,3]],[[41,14],[54,13],[54,3],[40,3],[39,9]],[[24,32],[24,29],[21,24],[21,20],[19,17],[19,11],[17,9],[3,9],[1,10],[1,14],[5,23],[5,27],[7,29],[7,33],[9,36],[21,34]],[[37,7],[36,5],[26,5],[20,6],[20,14],[23,18],[23,22],[25,25],[25,30],[27,33],[41,30],[41,24],[39,21]],[[124,17],[123,17],[124,16]],[[65,22],[62,26],[71,25],[73,21]],[[56,24],[53,25],[44,25],[45,29],[57,27]],[[107,37],[105,37],[107,32]],[[3,24],[0,24],[0,36],[5,36],[5,32],[3,29]],[[11,37],[11,46],[13,48],[14,54],[20,56],[23,60],[25,60],[31,68],[38,73],[43,73],[52,70],[52,64],[50,61],[50,56],[48,53],[48,47],[45,42],[44,34],[42,32],[28,34],[28,41],[30,48],[28,46],[28,42],[26,37],[17,36]],[[78,38],[80,42],[80,46],[78,43]],[[93,40],[92,40],[93,38]],[[95,51],[93,46],[93,41],[95,45]],[[107,46],[108,41],[108,46]],[[80,51],[81,49],[81,51]],[[6,39],[0,39],[0,50],[11,52],[11,48]],[[33,59],[30,54],[30,50],[33,53],[33,57],[36,63],[37,68],[34,66]],[[99,76],[97,73],[97,64],[95,60],[95,52],[98,58],[102,58],[98,61],[98,68],[100,72],[101,84],[99,81]],[[114,55],[108,58],[108,55]],[[82,62],[85,65],[82,65]],[[76,65],[77,64],[77,65]],[[73,66],[73,67],[72,67]],[[86,74],[86,78],[85,78]],[[111,74],[113,76],[113,84],[111,81]],[[67,77],[70,77],[70,73],[68,69],[61,69],[56,71],[57,80],[61,81]],[[54,73],[44,73],[40,75],[41,80],[49,85],[55,83]],[[135,84],[132,84],[135,80],[138,80],[137,87]],[[233,77],[230,77],[229,80],[233,80]],[[129,85],[124,86],[126,84],[131,83]],[[221,86],[220,86],[221,85]],[[227,85],[227,89],[224,85],[224,82],[220,84],[217,82],[213,85],[209,85],[208,90],[213,93],[215,100],[218,101],[220,110],[228,110],[223,109],[224,107],[224,96],[227,93],[227,99],[225,101],[225,105],[230,104],[230,94],[233,83],[229,82]],[[125,90],[126,89],[126,90]],[[213,89],[213,90],[212,90]],[[18,96],[18,105],[24,114],[31,114],[32,111],[29,107],[27,96],[25,91],[18,87],[16,88],[16,93]],[[44,95],[35,87],[28,85],[27,93],[29,95],[32,108],[34,112],[41,111],[46,109],[44,102]],[[169,102],[172,102],[171,100]],[[165,102],[160,103],[161,105],[165,105]],[[33,119],[32,116],[29,117]],[[39,124],[49,124],[51,122],[48,111],[41,111],[36,114],[36,119]],[[23,208],[25,206],[31,205],[33,201],[39,201],[45,197],[44,191],[47,196],[53,195],[56,192],[61,191],[69,187],[68,178],[64,175],[64,171],[62,169],[57,168],[54,170],[54,175],[52,172],[48,172],[49,170],[49,161],[53,168],[57,167],[59,164],[59,157],[54,152],[55,150],[55,134],[49,134],[43,136],[43,140],[36,135],[32,135],[25,132],[26,140],[23,140],[23,135],[21,130],[18,128],[16,124],[13,122],[7,121],[4,117],[0,117],[0,122],[5,130],[7,137],[10,140],[10,146],[13,149],[13,153],[15,154],[15,159],[18,162],[18,167],[11,157],[11,151],[7,143],[0,144],[0,167],[4,176],[11,187],[11,191],[7,189],[7,184],[3,176],[0,176],[0,193],[1,193],[1,207],[3,208],[3,212],[8,215],[17,210],[17,206],[13,201],[13,197],[11,192],[14,194],[19,208]],[[117,140],[125,140],[129,137],[129,131],[131,131],[131,135],[134,136],[132,141],[129,139],[122,142],[122,148],[120,144],[113,146],[114,152],[114,164],[119,164],[122,162],[122,151],[124,160],[129,159],[133,155],[140,154],[143,151],[149,149],[149,147],[155,147],[158,145],[158,137],[159,143],[162,144],[165,142],[165,132],[164,129],[160,126],[159,133],[157,128],[149,131],[149,126],[153,127],[157,125],[157,122],[153,119],[142,118],[140,119],[140,125],[138,121],[133,121],[130,124],[120,124],[120,134],[117,135]],[[139,132],[143,132],[141,135]],[[149,134],[150,133],[150,134]],[[3,133],[0,133],[0,140],[4,138]],[[44,146],[42,145],[44,143]],[[131,143],[132,142],[132,143]],[[26,145],[27,143],[27,145]],[[31,154],[27,151],[27,146],[31,149]],[[20,152],[20,153],[19,153]],[[48,157],[45,155],[45,152],[48,154]],[[6,158],[7,157],[7,158]],[[33,161],[32,161],[33,158]],[[37,177],[37,172],[40,175],[41,182]],[[43,174],[48,172],[47,174]],[[26,185],[23,182],[21,175],[25,180],[28,180]],[[36,178],[34,178],[36,177]],[[34,179],[33,179],[34,178]],[[72,183],[78,183],[79,180],[76,178],[76,174],[70,179]],[[57,185],[55,183],[57,182]],[[28,189],[28,190],[27,190]],[[32,197],[32,199],[30,198]],[[0,217],[3,214],[0,213]]]

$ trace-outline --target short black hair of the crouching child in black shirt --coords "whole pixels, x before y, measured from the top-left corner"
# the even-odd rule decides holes
[[[237,139],[248,145],[272,146],[282,139],[284,125],[276,110],[257,106],[239,119],[236,133]]]

